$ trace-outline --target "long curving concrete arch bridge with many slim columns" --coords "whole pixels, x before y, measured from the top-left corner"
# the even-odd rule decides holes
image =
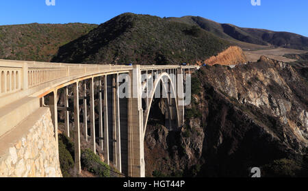
[[[1,155],[4,166],[16,168],[23,160],[19,159],[22,156],[18,154],[18,142],[22,142],[21,147],[29,147],[24,146],[29,145],[29,142],[24,144],[27,138],[22,138],[25,135],[20,132],[31,126],[31,120],[37,120],[48,110],[51,113],[56,149],[58,113],[64,112],[64,133],[73,137],[75,142],[77,173],[81,172],[80,138],[84,136],[90,142],[92,151],[103,151],[106,163],[112,163],[129,177],[144,177],[144,134],[153,99],[166,99],[166,125],[170,128],[181,127],[184,105],[190,103],[190,73],[198,68],[0,60],[0,175]],[[68,93],[69,89],[73,90],[73,94]],[[62,92],[64,104],[58,101],[57,92]],[[98,117],[95,117],[95,111]],[[73,125],[69,121],[72,116]],[[25,169],[21,173],[23,176],[29,175]],[[50,169],[45,169],[47,174],[51,174]],[[37,174],[42,170],[37,168],[36,171]],[[7,174],[3,173],[3,176],[10,176],[10,170]]]

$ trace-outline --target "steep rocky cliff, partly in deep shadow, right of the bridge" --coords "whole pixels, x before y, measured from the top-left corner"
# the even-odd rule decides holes
[[[202,67],[185,127],[169,131],[151,116],[146,175],[248,177],[258,166],[262,176],[307,176],[308,83],[298,70],[266,57]]]

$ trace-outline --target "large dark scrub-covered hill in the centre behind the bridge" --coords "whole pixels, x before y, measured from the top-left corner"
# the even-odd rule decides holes
[[[52,62],[179,64],[206,60],[229,46],[198,26],[125,13],[60,47]]]

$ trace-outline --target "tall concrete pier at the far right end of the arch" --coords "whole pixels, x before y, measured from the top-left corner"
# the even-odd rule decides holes
[[[177,110],[179,112],[179,127],[184,125],[184,84],[183,84],[183,69],[177,70]]]

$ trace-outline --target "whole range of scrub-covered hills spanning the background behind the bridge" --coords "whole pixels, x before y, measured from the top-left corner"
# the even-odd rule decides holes
[[[101,64],[204,62],[231,46],[308,50],[308,38],[220,24],[200,16],[160,18],[125,13],[101,25],[0,26],[0,59]]]

